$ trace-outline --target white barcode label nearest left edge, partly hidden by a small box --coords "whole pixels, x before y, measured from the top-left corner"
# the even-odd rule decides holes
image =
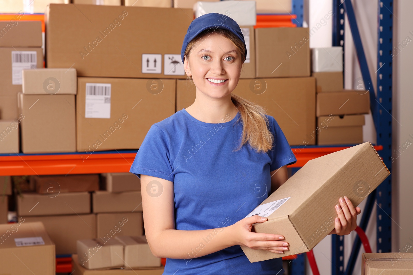
[[[36,51],[12,51],[12,84],[21,85],[21,70],[36,67]]]

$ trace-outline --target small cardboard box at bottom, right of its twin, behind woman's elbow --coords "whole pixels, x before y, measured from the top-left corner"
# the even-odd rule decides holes
[[[152,254],[145,236],[118,236],[116,240],[123,244],[125,266],[139,268],[161,266],[161,258]]]

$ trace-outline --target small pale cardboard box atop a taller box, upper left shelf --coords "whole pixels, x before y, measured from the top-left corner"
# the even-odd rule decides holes
[[[23,70],[23,94],[76,94],[76,69]]]

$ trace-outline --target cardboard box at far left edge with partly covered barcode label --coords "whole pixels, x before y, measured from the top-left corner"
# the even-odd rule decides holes
[[[0,60],[0,119],[13,120],[19,117],[17,93],[22,90],[21,70],[43,68],[43,50],[40,47],[0,47]]]

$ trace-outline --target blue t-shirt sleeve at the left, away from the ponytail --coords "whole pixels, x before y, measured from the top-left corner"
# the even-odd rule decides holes
[[[147,132],[129,172],[137,175],[139,179],[143,174],[173,181],[169,139],[157,125],[152,125]]]

